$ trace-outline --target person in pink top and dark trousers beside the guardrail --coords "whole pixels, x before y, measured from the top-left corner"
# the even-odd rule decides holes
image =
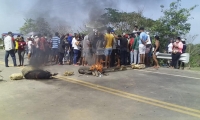
[[[176,41],[173,44],[172,48],[172,63],[171,68],[177,67],[177,62],[182,54],[183,43],[181,42],[181,38],[177,37]]]

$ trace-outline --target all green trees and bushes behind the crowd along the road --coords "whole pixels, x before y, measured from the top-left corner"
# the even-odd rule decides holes
[[[184,37],[189,33],[191,24],[188,23],[188,20],[192,18],[190,13],[197,5],[190,8],[182,8],[181,0],[176,0],[170,4],[169,9],[165,9],[163,5],[160,7],[163,16],[158,20],[146,18],[143,16],[143,10],[139,10],[138,12],[122,12],[113,8],[105,8],[105,13],[97,21],[112,27],[117,34],[122,34],[123,32],[132,33],[135,25],[145,27],[147,31],[151,31],[151,36],[160,36],[161,51],[164,52],[170,39],[175,39],[178,36]],[[54,28],[51,28],[44,18],[38,18],[36,20],[25,19],[25,23],[20,28],[20,32],[23,34],[29,32],[51,34],[55,31],[67,33],[70,29],[70,26],[60,24],[57,27],[54,26]],[[189,66],[199,66],[200,45],[194,45],[190,42],[187,46],[187,52],[190,53]]]

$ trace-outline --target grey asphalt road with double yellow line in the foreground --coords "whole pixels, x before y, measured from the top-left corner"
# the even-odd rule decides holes
[[[200,74],[152,68],[80,76],[78,67],[48,66],[51,80],[9,79],[0,51],[0,120],[198,120]],[[11,59],[10,59],[10,61]],[[64,77],[65,71],[75,75]]]

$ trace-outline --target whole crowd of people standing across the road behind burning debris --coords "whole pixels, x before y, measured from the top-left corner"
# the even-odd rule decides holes
[[[177,37],[167,46],[167,52],[172,54],[168,61],[169,67],[180,66],[178,60],[185,52],[184,39]],[[160,38],[151,39],[149,32],[135,26],[133,33],[116,35],[115,31],[108,29],[107,33],[94,31],[88,35],[63,34],[58,32],[54,36],[46,34],[31,35],[24,39],[22,36],[13,38],[8,32],[4,38],[5,66],[8,66],[8,56],[11,55],[14,66],[17,66],[15,54],[19,56],[19,65],[24,66],[24,56],[27,54],[32,65],[74,65],[90,66],[101,63],[105,68],[130,64],[145,64],[159,68],[157,55],[160,52]],[[33,59],[33,60],[32,60]],[[32,62],[31,62],[32,60]],[[182,68],[184,64],[182,63]]]

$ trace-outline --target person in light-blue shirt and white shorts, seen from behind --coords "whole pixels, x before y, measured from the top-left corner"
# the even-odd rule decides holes
[[[144,32],[144,28],[140,28],[140,40],[139,40],[139,54],[140,54],[140,64],[144,64],[145,60],[145,51],[146,51],[146,43],[147,41],[147,34]]]

